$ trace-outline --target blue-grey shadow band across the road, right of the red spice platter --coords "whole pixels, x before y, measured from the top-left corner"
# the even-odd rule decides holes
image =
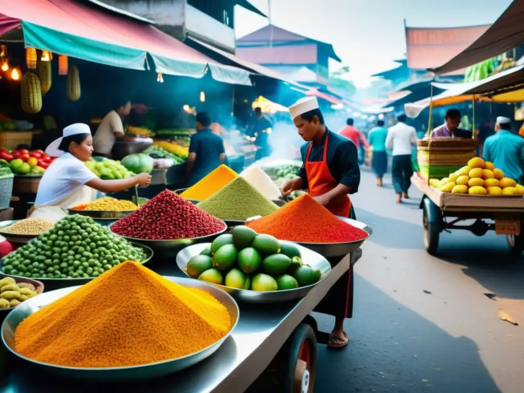
[[[417,206],[418,208],[418,206]],[[357,220],[373,228],[369,241],[389,248],[424,248],[422,227],[355,208]]]

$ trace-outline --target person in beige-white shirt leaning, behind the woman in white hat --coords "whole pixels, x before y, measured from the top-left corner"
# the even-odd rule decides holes
[[[124,137],[122,119],[131,112],[131,102],[118,106],[105,115],[93,137],[93,156],[111,157],[111,150],[117,138]]]

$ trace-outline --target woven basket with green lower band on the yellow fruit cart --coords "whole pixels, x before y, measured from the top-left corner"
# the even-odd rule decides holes
[[[479,141],[462,138],[434,138],[417,141],[417,162],[425,180],[442,179],[462,168],[477,154]]]

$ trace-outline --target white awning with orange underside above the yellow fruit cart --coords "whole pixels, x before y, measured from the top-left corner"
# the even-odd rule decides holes
[[[409,117],[417,117],[430,105],[446,106],[467,101],[512,103],[524,101],[524,65],[470,83],[436,83],[434,88],[445,89],[441,94],[405,104]]]

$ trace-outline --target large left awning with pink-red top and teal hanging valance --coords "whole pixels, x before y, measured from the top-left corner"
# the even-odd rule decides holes
[[[165,34],[143,18],[109,12],[74,0],[0,2],[0,35],[21,26],[26,47],[115,67],[144,70],[146,54],[156,72],[252,85],[246,70],[220,64]]]

